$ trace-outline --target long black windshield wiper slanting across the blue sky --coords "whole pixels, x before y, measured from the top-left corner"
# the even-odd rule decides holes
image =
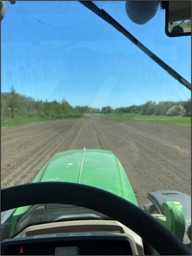
[[[96,4],[94,4],[92,1],[79,1],[81,4],[86,6],[88,9],[90,9],[93,13],[96,13],[99,17],[107,21],[109,24],[111,24],[114,28],[116,28],[118,31],[120,31],[122,34],[124,34],[132,43],[134,43],[139,49],[141,49],[146,55],[148,55],[154,62],[159,64],[160,67],[162,67],[164,70],[167,71],[171,75],[171,77],[174,77],[179,83],[187,87],[189,90],[191,90],[192,86],[191,84],[184,79],[179,73],[177,73],[173,68],[171,68],[169,65],[167,65],[163,60],[161,60],[157,55],[155,55],[152,51],[150,51],[147,47],[145,47],[141,42],[138,41],[137,38],[135,38],[132,34],[129,33],[128,30],[126,30],[121,24],[119,24],[113,17],[109,15],[109,13],[105,12],[104,9],[100,9]]]

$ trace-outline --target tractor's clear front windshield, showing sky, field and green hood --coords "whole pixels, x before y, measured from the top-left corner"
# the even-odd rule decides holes
[[[140,207],[151,191],[191,195],[190,90],[78,1],[10,2],[1,21],[1,188],[84,183]],[[138,25],[125,1],[94,3],[191,82],[191,37],[167,37],[162,10]],[[35,218],[108,218],[67,207],[16,209],[6,234]]]

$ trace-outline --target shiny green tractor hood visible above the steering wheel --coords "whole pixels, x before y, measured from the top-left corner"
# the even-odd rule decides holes
[[[44,181],[90,185],[138,205],[121,162],[109,150],[82,149],[55,154],[33,182]]]

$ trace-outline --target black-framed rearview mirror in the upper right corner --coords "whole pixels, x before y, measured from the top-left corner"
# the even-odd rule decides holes
[[[191,35],[191,1],[165,1],[165,33],[169,37]]]

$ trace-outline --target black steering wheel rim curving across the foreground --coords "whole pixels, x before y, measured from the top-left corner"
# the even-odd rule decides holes
[[[48,203],[77,205],[103,213],[129,227],[161,255],[191,255],[188,248],[149,213],[102,189],[68,182],[39,182],[1,190],[1,212]]]

